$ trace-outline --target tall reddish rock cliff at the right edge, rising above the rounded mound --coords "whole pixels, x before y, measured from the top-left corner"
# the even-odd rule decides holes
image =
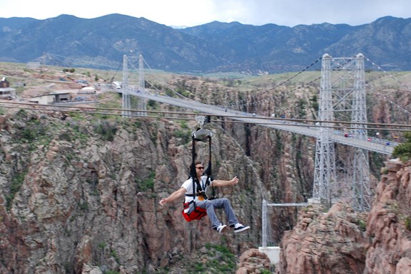
[[[363,274],[411,271],[411,166],[387,162],[367,221]]]

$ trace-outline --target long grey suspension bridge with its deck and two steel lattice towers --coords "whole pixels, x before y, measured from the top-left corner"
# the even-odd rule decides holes
[[[397,142],[369,137],[367,135],[367,113],[365,105],[365,69],[364,56],[358,54],[354,58],[333,58],[328,54],[322,57],[320,100],[318,125],[308,125],[303,122],[273,119],[248,112],[228,109],[216,105],[207,105],[187,98],[172,98],[158,93],[151,93],[144,87],[143,58],[139,59],[138,88],[128,86],[127,58],[123,60],[123,109],[129,110],[129,97],[140,98],[139,109],[146,110],[145,102],[154,100],[168,105],[175,105],[212,116],[230,117],[232,120],[271,127],[275,130],[285,130],[300,135],[315,137],[315,178],[313,182],[313,199],[331,201],[338,198],[341,180],[346,181],[351,194],[352,206],[360,211],[370,209],[370,178],[368,172],[367,152],[377,152],[390,155]],[[338,113],[350,116],[350,135],[335,129],[335,116]],[[127,113],[125,113],[127,114]],[[144,115],[144,112],[141,113]],[[338,176],[339,167],[335,166],[334,144],[345,144],[355,149],[350,163],[345,163],[342,172],[345,177]],[[346,190],[347,190],[346,189]],[[347,197],[345,197],[347,198]]]

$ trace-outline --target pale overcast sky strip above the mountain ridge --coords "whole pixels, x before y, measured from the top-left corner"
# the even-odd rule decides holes
[[[144,17],[167,26],[212,21],[261,26],[371,23],[382,16],[411,18],[411,0],[0,0],[0,18],[49,19],[70,14],[84,19],[107,14]]]

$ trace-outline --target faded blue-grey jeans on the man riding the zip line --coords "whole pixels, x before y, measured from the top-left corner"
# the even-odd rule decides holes
[[[193,204],[191,205],[193,206]],[[233,208],[230,205],[230,201],[228,201],[227,198],[197,201],[196,206],[200,206],[207,211],[208,218],[210,218],[211,226],[213,228],[217,228],[217,226],[220,226],[221,223],[215,215],[214,209],[224,209],[225,216],[227,217],[228,221],[228,226],[238,223],[237,217],[235,217]],[[189,212],[191,211],[193,211],[193,209],[190,209]]]

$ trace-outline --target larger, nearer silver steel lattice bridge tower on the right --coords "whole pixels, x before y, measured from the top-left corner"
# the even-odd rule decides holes
[[[357,211],[370,209],[370,176],[365,149],[335,147],[333,126],[345,126],[347,137],[367,139],[364,56],[322,59],[318,138],[315,147],[313,199],[349,202]],[[352,122],[338,124],[337,121]],[[337,151],[336,151],[336,148]],[[335,164],[338,162],[339,164]]]

